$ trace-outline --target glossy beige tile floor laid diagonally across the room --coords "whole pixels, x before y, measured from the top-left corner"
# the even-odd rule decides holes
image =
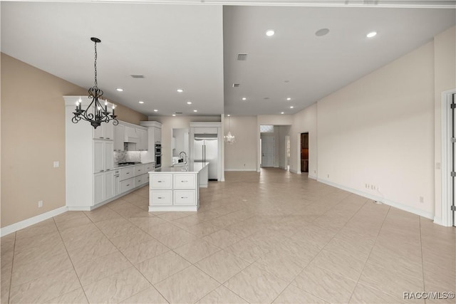
[[[281,169],[227,172],[198,212],[148,190],[1,238],[1,303],[454,303],[455,229]]]

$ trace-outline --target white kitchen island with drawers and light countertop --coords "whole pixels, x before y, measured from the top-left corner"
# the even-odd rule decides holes
[[[149,211],[197,211],[199,187],[207,187],[208,162],[149,172]]]

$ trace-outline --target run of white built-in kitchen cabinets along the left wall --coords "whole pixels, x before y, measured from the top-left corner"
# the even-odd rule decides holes
[[[75,124],[71,118],[74,116],[74,105],[79,100],[79,96],[63,96],[63,98],[66,105],[65,170],[68,210],[93,210],[135,189],[135,166],[132,166],[131,169],[125,168],[127,169],[123,174],[125,178],[121,180],[120,168],[114,169],[113,164],[113,150],[123,150],[125,125],[119,123],[118,126],[115,126],[115,140],[113,140],[111,133],[114,132],[113,122],[103,122],[95,130],[90,123],[85,121]],[[83,106],[89,105],[88,98],[81,99]],[[133,130],[135,130],[134,127]],[[151,164],[146,165],[147,170],[152,168]],[[147,182],[143,176],[145,167],[142,164],[140,166],[142,168],[140,179],[144,184]]]

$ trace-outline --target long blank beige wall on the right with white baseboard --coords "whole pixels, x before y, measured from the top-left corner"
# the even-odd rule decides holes
[[[432,218],[432,42],[318,101],[317,120],[319,180]]]

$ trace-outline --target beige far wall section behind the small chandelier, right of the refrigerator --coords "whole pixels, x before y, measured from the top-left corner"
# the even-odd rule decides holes
[[[257,171],[257,117],[225,117],[224,129],[236,138],[232,145],[225,143],[225,170]]]

